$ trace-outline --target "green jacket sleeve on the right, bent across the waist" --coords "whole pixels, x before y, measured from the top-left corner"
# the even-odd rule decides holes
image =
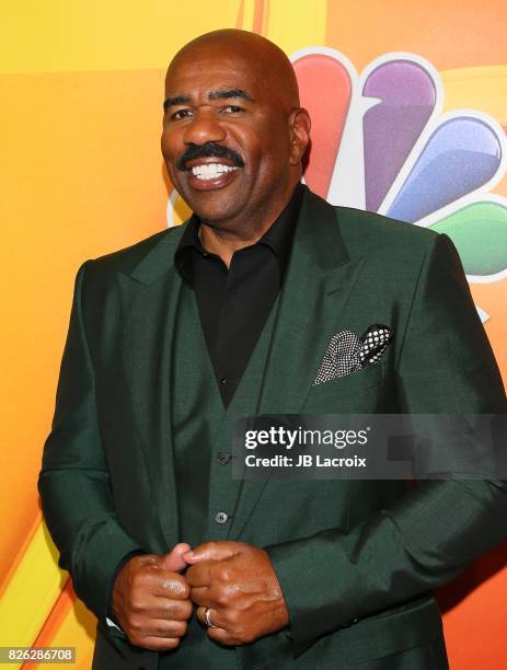
[[[436,235],[399,349],[400,412],[505,414],[502,379],[458,253]],[[299,656],[326,633],[430,591],[507,536],[507,483],[422,480],[349,532],[266,547]]]

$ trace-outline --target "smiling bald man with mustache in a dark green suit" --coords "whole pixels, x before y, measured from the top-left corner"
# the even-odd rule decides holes
[[[162,152],[194,216],[78,272],[39,490],[94,668],[446,668],[431,589],[505,536],[498,480],[231,476],[245,415],[506,409],[449,239],[300,185],[309,131],[278,47],[191,42]],[[380,360],[314,383],[375,323]]]

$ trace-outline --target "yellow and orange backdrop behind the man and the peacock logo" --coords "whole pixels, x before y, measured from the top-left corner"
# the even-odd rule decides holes
[[[56,565],[36,490],[72,282],[85,258],[166,226],[164,69],[192,37],[233,26],[287,54],[333,47],[358,72],[387,53],[419,55],[439,73],[443,111],[476,108],[507,127],[504,0],[2,2],[0,646],[77,646],[77,667],[91,666],[95,622]],[[494,193],[507,196],[506,178]],[[507,279],[472,290],[507,379]],[[505,667],[506,553],[440,593],[452,669]]]

